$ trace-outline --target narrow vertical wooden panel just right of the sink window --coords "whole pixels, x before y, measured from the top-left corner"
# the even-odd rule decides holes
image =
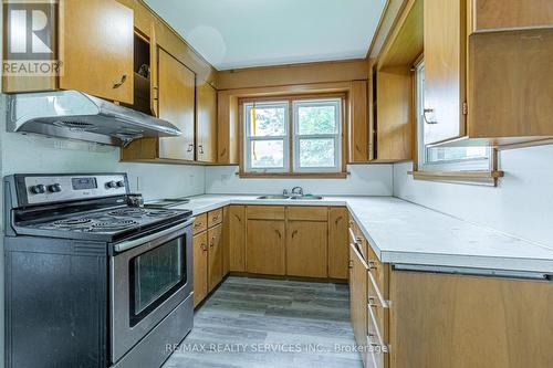
[[[354,81],[349,94],[349,162],[368,161],[367,81]]]

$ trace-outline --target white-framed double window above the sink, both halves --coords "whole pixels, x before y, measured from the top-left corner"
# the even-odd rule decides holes
[[[244,171],[342,171],[342,98],[243,105]]]

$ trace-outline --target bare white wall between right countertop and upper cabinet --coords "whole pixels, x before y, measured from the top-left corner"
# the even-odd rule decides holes
[[[394,196],[553,246],[553,146],[500,153],[498,188],[414,180],[394,166]]]

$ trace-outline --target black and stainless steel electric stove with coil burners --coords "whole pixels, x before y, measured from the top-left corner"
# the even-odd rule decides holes
[[[191,329],[191,213],[129,196],[125,174],[4,178],[6,367],[157,367]]]

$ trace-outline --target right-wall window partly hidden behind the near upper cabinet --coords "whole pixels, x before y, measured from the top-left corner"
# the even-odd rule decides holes
[[[417,126],[419,171],[480,171],[491,170],[492,151],[489,147],[428,147],[424,118],[425,64],[417,66]]]

